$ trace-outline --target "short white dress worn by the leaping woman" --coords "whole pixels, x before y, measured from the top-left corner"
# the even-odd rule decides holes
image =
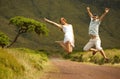
[[[74,47],[74,34],[73,34],[73,27],[71,24],[66,24],[63,25],[63,32],[65,33],[64,35],[64,43],[69,41],[71,45]]]

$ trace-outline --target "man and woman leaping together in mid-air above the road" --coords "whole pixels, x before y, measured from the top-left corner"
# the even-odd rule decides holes
[[[101,55],[107,60],[108,58],[106,57],[101,47],[101,40],[99,37],[99,26],[103,17],[109,12],[109,9],[105,8],[105,12],[100,17],[98,15],[93,15],[90,10],[90,7],[87,7],[87,12],[91,19],[89,24],[90,40],[85,45],[83,50],[92,51],[93,55],[95,55],[99,51]],[[68,54],[71,53],[74,47],[74,32],[72,25],[68,24],[65,18],[60,19],[60,24],[53,22],[47,18],[44,18],[44,20],[62,29],[62,31],[64,32],[64,40],[56,42],[59,43]]]

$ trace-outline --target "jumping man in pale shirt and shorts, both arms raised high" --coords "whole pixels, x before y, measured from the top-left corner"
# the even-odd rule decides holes
[[[89,36],[90,40],[85,45],[84,51],[92,51],[93,55],[95,55],[98,51],[101,55],[108,60],[106,57],[104,50],[101,47],[101,40],[99,37],[99,26],[103,19],[103,17],[109,12],[108,8],[105,8],[105,12],[99,17],[98,15],[93,15],[90,11],[90,7],[87,7],[87,12],[91,18],[90,25],[89,25]]]

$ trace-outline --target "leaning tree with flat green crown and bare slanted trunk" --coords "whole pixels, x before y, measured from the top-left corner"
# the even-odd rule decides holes
[[[45,24],[39,21],[36,21],[34,19],[25,18],[23,16],[16,16],[16,17],[11,18],[9,24],[17,26],[17,35],[15,39],[13,40],[13,42],[8,47],[13,45],[18,39],[18,37],[23,33],[35,32],[38,35],[48,34],[48,29],[46,28]]]

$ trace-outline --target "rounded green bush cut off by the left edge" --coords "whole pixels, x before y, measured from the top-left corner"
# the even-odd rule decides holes
[[[4,48],[10,43],[9,37],[5,35],[4,33],[0,32],[0,46]]]

